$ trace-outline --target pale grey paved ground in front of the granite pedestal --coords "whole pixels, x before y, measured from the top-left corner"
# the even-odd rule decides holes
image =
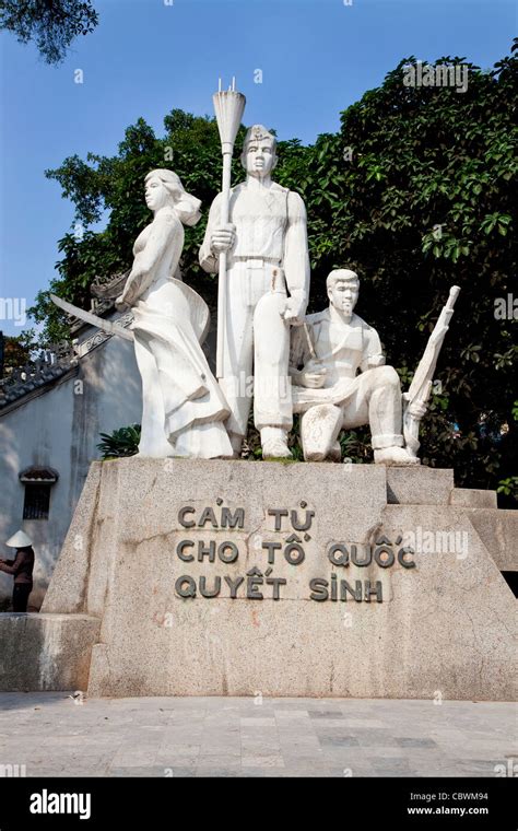
[[[507,703],[0,693],[0,765],[27,776],[494,776]]]

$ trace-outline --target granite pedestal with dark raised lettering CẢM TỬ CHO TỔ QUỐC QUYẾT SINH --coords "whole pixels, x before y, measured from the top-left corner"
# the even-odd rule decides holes
[[[23,683],[75,662],[86,686],[86,660],[91,695],[511,700],[515,598],[473,519],[506,512],[474,493],[422,467],[93,463],[33,616],[58,669]]]

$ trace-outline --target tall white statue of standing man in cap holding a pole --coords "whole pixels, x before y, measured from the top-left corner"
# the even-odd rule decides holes
[[[261,125],[248,130],[242,153],[247,176],[232,188],[231,221],[221,224],[219,194],[200,249],[200,264],[212,273],[220,253],[228,253],[220,384],[231,408],[226,426],[235,456],[247,432],[252,368],[263,457],[291,455],[290,325],[302,323],[306,312],[309,257],[304,202],[271,179],[275,148],[275,137]]]

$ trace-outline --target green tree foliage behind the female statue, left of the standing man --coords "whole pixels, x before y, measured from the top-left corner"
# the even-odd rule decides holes
[[[128,127],[118,154],[106,157],[89,153],[86,162],[70,156],[48,178],[59,182],[62,196],[75,206],[73,230],[58,243],[63,255],[57,262],[59,277],[36,297],[30,314],[45,323],[44,341],[67,336],[66,317],[50,301],[50,292],[75,305],[89,305],[90,285],[96,277],[109,277],[131,266],[138,233],[150,222],[145,206],[144,177],[153,168],[168,167],[184,187],[202,200],[208,210],[221,184],[221,144],[213,119],[195,117],[174,109],[164,119],[165,136],[157,139],[143,118]],[[238,133],[238,145],[245,130]],[[234,160],[233,180],[244,178],[239,159]],[[106,229],[95,233],[89,226],[109,212]],[[215,302],[216,284],[198,265],[207,213],[195,227],[186,227],[181,269],[189,283],[202,291],[209,304]]]

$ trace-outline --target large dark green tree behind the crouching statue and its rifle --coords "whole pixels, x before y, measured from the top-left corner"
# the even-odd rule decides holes
[[[311,309],[326,303],[331,268],[356,269],[357,312],[379,330],[403,388],[449,286],[461,286],[422,457],[454,466],[459,484],[495,487],[517,463],[516,320],[495,316],[516,274],[517,60],[486,72],[468,65],[466,93],[405,86],[402,70],[414,60],[349,107],[340,132],[320,136],[306,171],[292,166],[284,184],[308,210]]]

